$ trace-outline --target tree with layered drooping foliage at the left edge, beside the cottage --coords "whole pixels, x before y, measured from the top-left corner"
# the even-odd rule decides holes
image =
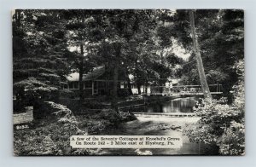
[[[15,10],[13,78],[19,103],[37,108],[38,101],[58,97],[69,68],[65,33],[57,10]]]

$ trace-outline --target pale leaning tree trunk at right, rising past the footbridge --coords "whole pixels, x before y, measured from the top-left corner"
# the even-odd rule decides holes
[[[195,58],[197,62],[197,69],[199,73],[199,78],[200,78],[200,83],[201,83],[201,89],[203,91],[203,95],[206,99],[206,101],[211,102],[212,101],[212,95],[210,92],[210,89],[207,84],[207,78],[206,74],[204,71],[204,66],[201,60],[201,53],[199,49],[199,44],[198,40],[196,37],[196,32],[195,32],[195,19],[194,19],[194,13],[193,10],[189,11],[189,19],[190,19],[190,26],[191,26],[191,34],[192,34],[192,39],[193,39],[193,45],[194,45],[194,52],[195,52]]]

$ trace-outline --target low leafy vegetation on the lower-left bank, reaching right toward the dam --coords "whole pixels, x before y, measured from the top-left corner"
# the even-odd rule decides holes
[[[97,134],[107,128],[136,119],[131,113],[111,109],[76,118],[67,107],[47,102],[51,118],[33,123],[31,129],[14,130],[14,153],[19,155],[95,155],[100,149],[73,149],[71,135]],[[35,128],[33,128],[35,127]]]

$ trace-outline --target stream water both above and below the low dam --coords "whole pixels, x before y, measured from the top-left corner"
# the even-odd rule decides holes
[[[137,107],[134,112],[192,112],[195,100],[195,98],[190,97],[158,102],[145,107]],[[118,129],[107,130],[103,135],[175,135],[183,140],[183,146],[180,148],[147,148],[141,150],[148,150],[153,155],[218,155],[217,146],[190,142],[189,137],[183,135],[183,128],[186,124],[189,124],[186,118],[137,117],[137,120],[120,124]],[[137,155],[136,149],[104,149],[103,151],[107,155]]]

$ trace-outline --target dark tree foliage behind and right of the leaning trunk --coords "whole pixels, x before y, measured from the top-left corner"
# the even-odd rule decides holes
[[[183,11],[180,12],[183,13]],[[177,15],[183,16],[183,14]],[[188,20],[188,17],[183,19]],[[222,84],[224,95],[228,95],[233,85],[238,82],[234,65],[238,60],[244,58],[243,11],[196,10],[195,26],[207,83]],[[187,28],[188,26],[184,25],[183,29]],[[183,39],[182,43],[185,46],[191,46],[186,44]],[[199,84],[194,54],[183,66],[182,82],[184,84]]]

